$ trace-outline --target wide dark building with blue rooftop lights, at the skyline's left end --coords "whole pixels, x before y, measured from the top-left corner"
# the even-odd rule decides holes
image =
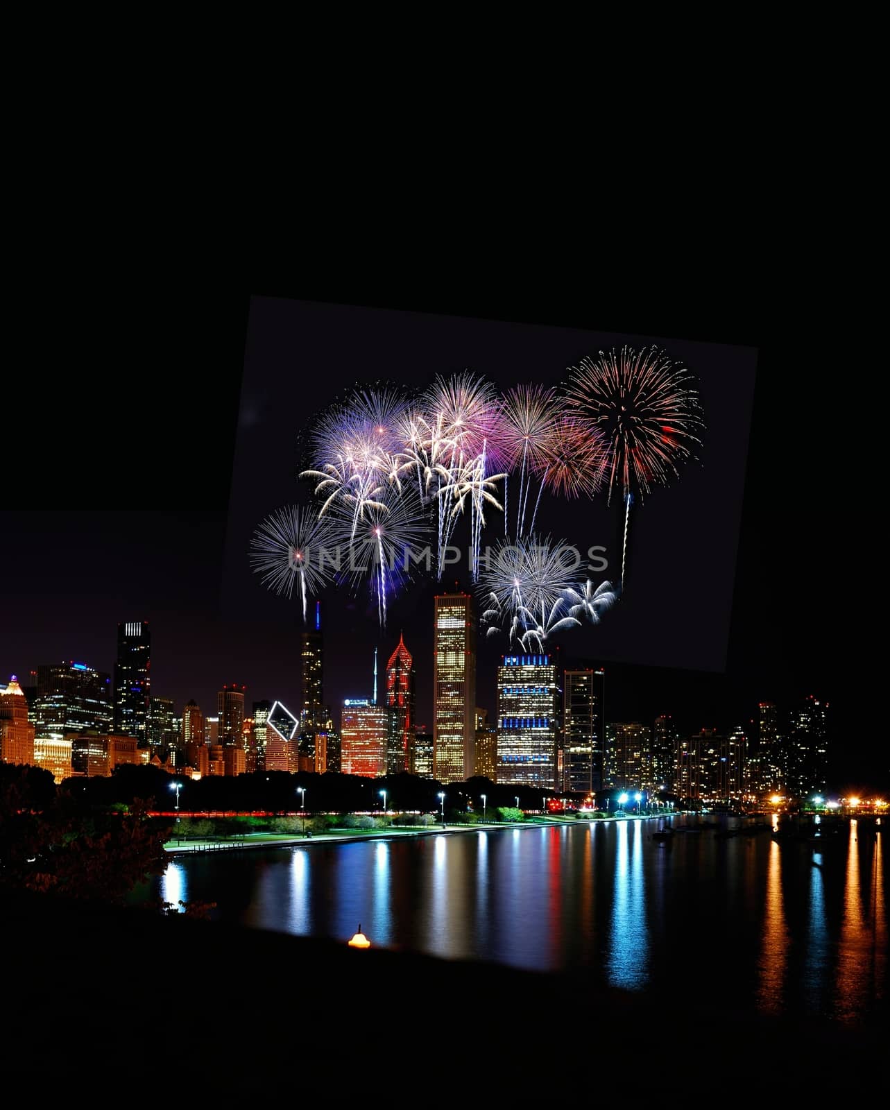
[[[37,668],[34,725],[38,736],[111,728],[111,677],[85,663],[48,663]]]

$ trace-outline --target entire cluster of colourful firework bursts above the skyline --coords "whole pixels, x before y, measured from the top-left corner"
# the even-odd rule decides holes
[[[415,396],[356,386],[309,435],[310,508],[285,508],[257,528],[251,563],[263,583],[306,601],[332,582],[366,581],[381,624],[387,597],[417,569],[442,577],[458,523],[468,521],[469,577],[484,599],[488,635],[525,648],[583,620],[598,624],[618,592],[585,581],[563,541],[535,534],[545,491],[625,502],[625,545],[635,493],[666,484],[692,457],[704,426],[691,374],[657,347],[600,352],[569,369],[567,385],[516,385],[503,395],[464,371]],[[509,484],[509,497],[508,497]],[[512,504],[510,504],[512,502]],[[483,558],[483,532],[503,513],[506,538]],[[435,556],[426,546],[434,537]],[[326,547],[325,562],[306,557]],[[432,564],[435,563],[435,569]]]

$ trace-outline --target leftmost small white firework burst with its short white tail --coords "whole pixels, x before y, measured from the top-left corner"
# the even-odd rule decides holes
[[[335,543],[334,529],[309,508],[289,505],[276,509],[256,528],[251,539],[250,562],[263,585],[276,594],[293,594],[299,583],[306,619],[306,601],[333,578],[325,552]]]

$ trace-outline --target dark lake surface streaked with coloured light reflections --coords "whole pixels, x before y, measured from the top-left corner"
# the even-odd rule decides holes
[[[361,921],[375,946],[765,1013],[883,1010],[886,830],[851,821],[810,844],[684,824],[668,842],[628,819],[179,856],[149,896],[344,942]]]

